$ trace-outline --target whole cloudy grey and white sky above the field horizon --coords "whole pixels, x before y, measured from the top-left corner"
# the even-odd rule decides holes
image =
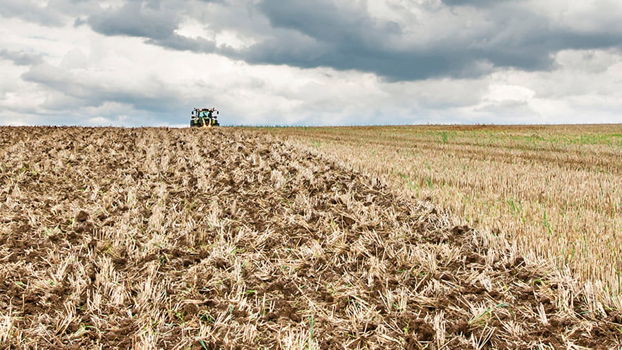
[[[620,0],[1,0],[0,125],[622,122]]]

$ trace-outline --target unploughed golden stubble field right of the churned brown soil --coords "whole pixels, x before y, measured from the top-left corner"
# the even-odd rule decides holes
[[[622,311],[622,125],[276,128],[509,237]]]

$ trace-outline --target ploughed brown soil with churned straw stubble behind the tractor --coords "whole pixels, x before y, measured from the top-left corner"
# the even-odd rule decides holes
[[[621,316],[254,129],[0,128],[0,345],[611,349]]]

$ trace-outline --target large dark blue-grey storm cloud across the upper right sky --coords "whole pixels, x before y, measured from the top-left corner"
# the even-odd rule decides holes
[[[450,6],[491,6],[490,0],[444,1]],[[466,36],[439,35],[426,45],[405,48],[386,44],[389,38],[408,42],[400,24],[378,22],[364,11],[343,11],[332,2],[264,0],[259,9],[274,28],[285,28],[316,42],[318,50],[305,52],[305,41],[286,40],[283,50],[279,38],[257,44],[247,50],[252,62],[292,66],[330,66],[357,69],[384,76],[389,80],[421,80],[428,77],[474,77],[482,65],[513,67],[527,71],[552,68],[552,53],[567,48],[610,48],[619,46],[618,33],[579,33],[554,28],[545,17],[516,6],[518,1],[494,1],[496,6],[508,3],[514,8],[487,12],[494,24],[486,33]],[[482,10],[483,11],[483,10]],[[435,33],[432,33],[434,36]],[[441,33],[439,33],[441,34]]]

